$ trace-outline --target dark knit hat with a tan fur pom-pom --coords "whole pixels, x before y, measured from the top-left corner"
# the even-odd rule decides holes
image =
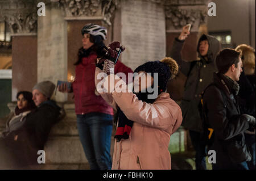
[[[154,78],[154,73],[158,73],[158,86],[160,90],[165,91],[169,79],[174,79],[179,71],[177,62],[170,58],[165,57],[160,61],[149,61],[143,65],[138,66],[134,72],[145,71],[151,73]]]

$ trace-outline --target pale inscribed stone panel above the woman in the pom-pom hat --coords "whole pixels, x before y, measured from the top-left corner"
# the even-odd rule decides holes
[[[131,69],[166,56],[166,27],[161,3],[121,1],[122,62]]]

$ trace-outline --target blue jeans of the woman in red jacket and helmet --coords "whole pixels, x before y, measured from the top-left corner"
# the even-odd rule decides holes
[[[110,155],[113,116],[100,112],[77,115],[77,129],[92,170],[111,169]]]

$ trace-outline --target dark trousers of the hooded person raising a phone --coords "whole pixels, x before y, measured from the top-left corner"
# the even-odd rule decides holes
[[[201,141],[201,133],[189,130],[189,135],[193,148],[196,151],[196,170],[206,170],[206,146],[204,142]]]

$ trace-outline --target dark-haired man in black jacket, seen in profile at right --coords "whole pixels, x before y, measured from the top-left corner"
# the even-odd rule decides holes
[[[240,112],[237,81],[242,72],[240,53],[224,49],[216,57],[217,73],[204,90],[204,113],[214,132],[211,150],[216,152],[213,170],[247,170],[251,155],[245,132],[255,129],[255,117]]]

